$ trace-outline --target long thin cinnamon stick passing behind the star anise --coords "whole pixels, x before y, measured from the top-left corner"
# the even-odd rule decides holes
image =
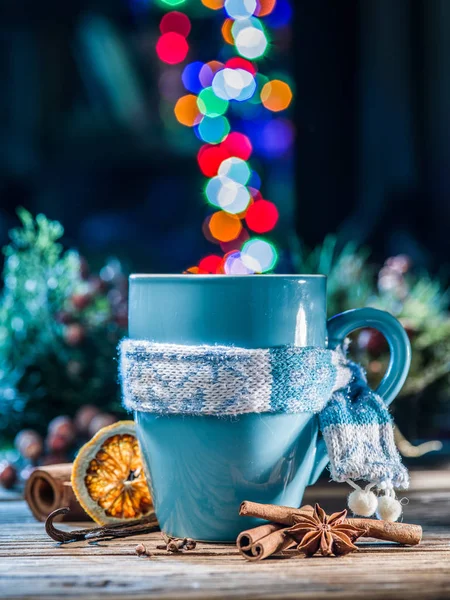
[[[282,525],[292,526],[297,519],[309,512],[311,507],[291,508],[289,506],[276,506],[274,504],[259,504],[257,502],[245,501],[241,504],[239,514],[241,516],[256,517],[266,521],[273,521]],[[310,512],[309,512],[310,514]],[[375,519],[346,519],[347,523],[366,530],[366,537],[378,540],[387,540],[415,546],[422,539],[422,527],[409,523],[391,523],[389,521],[377,521]]]

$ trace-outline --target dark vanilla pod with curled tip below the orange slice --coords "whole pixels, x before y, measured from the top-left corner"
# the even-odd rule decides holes
[[[154,513],[135,521],[113,523],[102,527],[73,529],[72,531],[57,529],[53,523],[54,518],[59,515],[66,515],[69,512],[70,509],[67,507],[58,508],[50,513],[45,521],[45,531],[53,540],[55,540],[55,542],[67,544],[69,542],[78,542],[82,540],[112,540],[151,533],[159,529],[158,521],[156,520]]]

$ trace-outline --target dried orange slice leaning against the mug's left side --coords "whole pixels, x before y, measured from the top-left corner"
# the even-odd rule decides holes
[[[133,421],[100,429],[78,453],[72,488],[100,525],[140,519],[153,512]]]

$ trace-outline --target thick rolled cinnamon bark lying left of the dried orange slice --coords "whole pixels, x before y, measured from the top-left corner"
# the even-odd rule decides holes
[[[49,465],[35,469],[25,486],[25,500],[38,521],[45,521],[48,515],[68,506],[70,512],[57,517],[63,521],[89,521],[90,517],[81,508],[70,483],[72,464]]]

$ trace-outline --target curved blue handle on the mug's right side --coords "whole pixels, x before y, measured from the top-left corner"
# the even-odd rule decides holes
[[[391,314],[376,308],[356,308],[328,320],[328,348],[334,349],[355,329],[370,327],[384,335],[389,344],[390,358],[386,373],[375,390],[390,404],[405,383],[411,365],[411,344],[401,323]],[[314,467],[308,485],[317,481],[329,459],[323,438],[317,443]]]

